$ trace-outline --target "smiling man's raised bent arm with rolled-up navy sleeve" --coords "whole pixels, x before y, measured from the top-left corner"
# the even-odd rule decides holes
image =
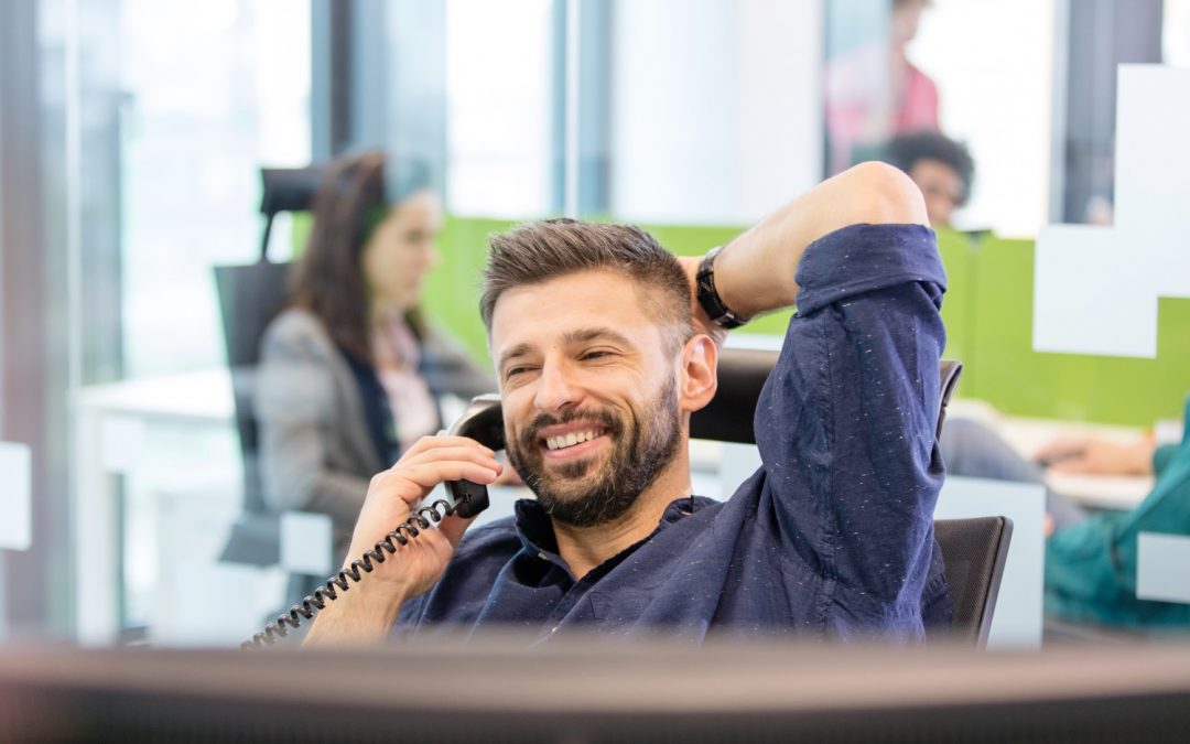
[[[825,581],[825,623],[916,638],[937,584],[932,515],[946,274],[901,171],[857,165],[714,258],[743,318],[797,305],[756,411],[758,520],[789,570]],[[928,586],[927,586],[928,584]]]

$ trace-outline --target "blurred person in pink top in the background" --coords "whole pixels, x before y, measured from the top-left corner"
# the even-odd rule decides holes
[[[827,171],[870,160],[900,135],[938,131],[938,86],[908,55],[929,0],[891,0],[888,35],[827,64]]]

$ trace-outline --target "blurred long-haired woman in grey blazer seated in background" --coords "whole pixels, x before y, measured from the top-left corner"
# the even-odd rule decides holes
[[[390,201],[384,167],[384,155],[369,151],[327,169],[287,310],[262,342],[256,415],[265,498],[277,509],[328,515],[333,561],[371,476],[441,429],[441,395],[496,389],[419,307],[438,258],[438,198],[413,189]],[[320,579],[293,577],[288,596],[296,601]]]

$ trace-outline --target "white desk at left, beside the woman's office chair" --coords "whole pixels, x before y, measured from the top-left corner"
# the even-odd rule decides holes
[[[75,631],[80,643],[106,644],[120,631],[121,530],[113,476],[138,464],[154,424],[230,427],[231,376],[209,369],[89,386],[71,407]]]

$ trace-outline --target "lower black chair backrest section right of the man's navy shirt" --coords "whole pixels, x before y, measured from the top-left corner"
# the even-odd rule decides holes
[[[1007,517],[938,519],[934,538],[946,563],[953,615],[950,629],[932,629],[929,634],[983,648],[1000,596],[1013,520]]]

